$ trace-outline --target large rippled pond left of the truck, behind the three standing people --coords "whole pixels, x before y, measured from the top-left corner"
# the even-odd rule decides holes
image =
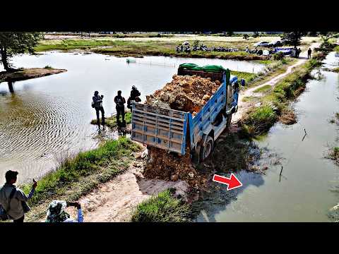
[[[66,68],[66,73],[0,84],[0,183],[8,169],[20,172],[19,182],[31,181],[53,169],[59,157],[95,147],[100,137],[112,135],[90,125],[95,111],[93,92],[105,95],[106,116],[115,112],[114,96],[126,99],[132,85],[145,99],[172,79],[179,63],[221,64],[232,70],[260,71],[263,65],[218,59],[172,59],[148,56],[126,63],[126,58],[102,54],[48,52],[16,56],[15,67]],[[2,68],[2,66],[0,66]],[[0,71],[3,71],[0,69]]]

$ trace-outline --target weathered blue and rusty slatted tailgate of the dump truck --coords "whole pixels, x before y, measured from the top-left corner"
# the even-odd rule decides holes
[[[133,103],[132,110],[132,140],[185,154],[189,113],[142,103]]]

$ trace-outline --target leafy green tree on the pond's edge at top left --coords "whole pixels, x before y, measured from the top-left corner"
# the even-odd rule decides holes
[[[34,53],[34,47],[42,37],[41,32],[0,32],[0,56],[4,69],[15,71],[9,59],[15,54]]]

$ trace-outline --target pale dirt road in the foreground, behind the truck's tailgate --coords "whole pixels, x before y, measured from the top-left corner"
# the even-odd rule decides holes
[[[176,188],[177,194],[185,197],[189,187],[186,182],[143,179],[142,163],[137,159],[124,174],[102,183],[78,200],[83,208],[85,222],[129,222],[131,212],[138,203],[167,188]],[[76,218],[73,207],[67,208],[67,211]]]

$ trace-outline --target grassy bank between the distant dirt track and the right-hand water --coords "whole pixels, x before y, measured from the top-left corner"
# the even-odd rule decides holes
[[[265,96],[259,97],[258,102],[261,106],[252,108],[242,120],[243,133],[249,137],[266,133],[280,118],[283,118],[285,123],[289,123],[288,119],[294,123],[294,114],[291,114],[289,109],[290,99],[295,99],[304,90],[306,81],[311,78],[311,70],[320,64],[321,62],[316,59],[307,61],[287,75],[272,90],[267,90],[269,92]]]

